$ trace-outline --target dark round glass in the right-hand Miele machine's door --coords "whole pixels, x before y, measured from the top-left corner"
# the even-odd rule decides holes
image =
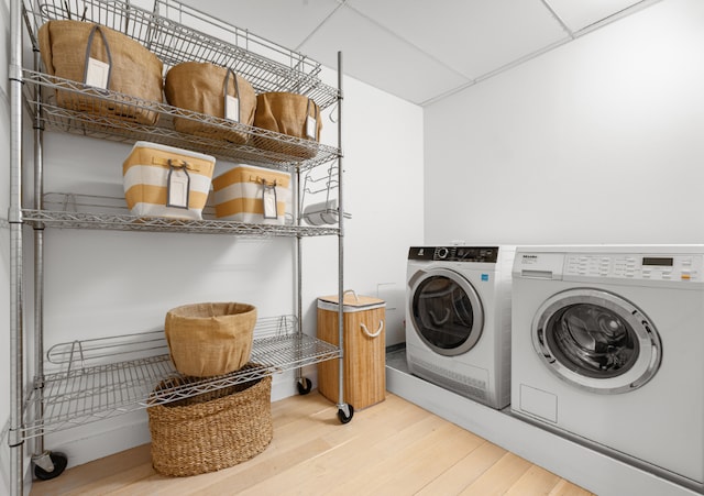
[[[616,377],[638,359],[632,328],[616,312],[597,305],[564,307],[546,327],[546,335],[560,363],[588,377]]]

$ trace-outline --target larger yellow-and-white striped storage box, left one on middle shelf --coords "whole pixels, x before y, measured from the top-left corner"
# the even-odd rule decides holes
[[[122,164],[124,198],[133,216],[200,220],[216,159],[139,141]]]

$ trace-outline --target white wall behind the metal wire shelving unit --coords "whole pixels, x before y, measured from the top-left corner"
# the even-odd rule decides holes
[[[0,42],[2,53],[7,53],[9,37],[3,36]],[[333,70],[326,69],[323,78],[337,86]],[[345,288],[388,300],[387,335],[388,344],[393,344],[404,340],[406,251],[422,235],[422,201],[418,201],[422,195],[422,110],[350,78],[344,85],[345,210],[353,216],[345,222]],[[3,97],[0,125],[6,130],[1,137],[6,142],[7,106]],[[380,115],[383,119],[377,119]],[[324,118],[321,141],[337,145],[337,128],[328,115]],[[45,191],[122,195],[121,165],[131,145],[47,132],[44,150]],[[26,162],[31,162],[32,147],[24,152]],[[228,165],[219,163],[216,174]],[[28,163],[28,177],[31,166]],[[6,185],[1,194],[6,206],[7,178],[6,172],[0,178],[0,185]],[[32,205],[31,197],[28,180],[28,207]],[[7,308],[9,235],[7,229],[0,232],[0,277],[6,280],[0,305]],[[25,311],[31,316],[32,231],[25,232],[30,254]],[[45,349],[75,339],[161,329],[169,308],[195,301],[252,302],[263,317],[295,313],[294,243],[294,239],[48,229]],[[316,298],[338,289],[337,238],[304,239],[302,246],[304,329],[315,334]],[[3,340],[8,339],[4,334]],[[31,338],[28,341],[26,357],[31,360]],[[9,397],[6,368],[0,375],[2,398]],[[315,384],[316,367],[308,367],[305,374]],[[31,372],[26,378],[31,379]],[[293,374],[274,377],[273,399],[295,390]],[[3,406],[0,415],[7,418],[9,409]],[[48,434],[45,444],[50,450],[65,452],[72,466],[147,441],[146,414],[140,411]]]

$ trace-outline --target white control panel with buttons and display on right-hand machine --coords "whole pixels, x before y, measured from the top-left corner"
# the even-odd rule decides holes
[[[570,276],[644,280],[704,280],[702,255],[569,254]]]

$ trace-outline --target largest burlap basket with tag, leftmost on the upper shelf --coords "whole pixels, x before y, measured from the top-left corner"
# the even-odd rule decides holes
[[[44,67],[52,76],[85,82],[87,59],[92,57],[110,64],[107,89],[142,100],[162,101],[162,62],[139,42],[118,31],[89,22],[48,21],[40,27],[38,42]],[[101,89],[87,89],[88,92],[100,95]],[[106,100],[82,92],[56,91],[57,104],[70,110],[140,124],[156,123],[158,113],[148,103],[130,101],[114,96]]]

